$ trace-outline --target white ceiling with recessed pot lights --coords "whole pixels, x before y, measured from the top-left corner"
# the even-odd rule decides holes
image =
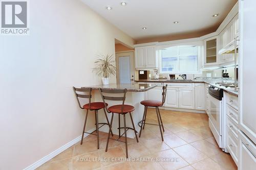
[[[216,30],[237,0],[81,0],[134,39]],[[126,6],[121,6],[126,2]],[[112,10],[106,10],[111,6]],[[219,16],[212,17],[218,13]],[[178,20],[178,24],[173,22]],[[146,27],[146,30],[142,30]]]

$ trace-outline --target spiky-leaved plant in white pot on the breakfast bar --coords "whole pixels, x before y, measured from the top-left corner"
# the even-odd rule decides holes
[[[96,67],[93,68],[94,71],[97,71],[97,75],[102,77],[103,85],[109,84],[109,78],[116,75],[116,66],[115,60],[113,60],[112,55],[99,55],[99,58],[94,62]]]

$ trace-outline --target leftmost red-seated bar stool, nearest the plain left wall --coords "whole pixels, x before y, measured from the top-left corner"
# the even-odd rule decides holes
[[[83,135],[84,133],[88,133],[88,132],[84,132],[84,130],[86,129],[86,122],[87,122],[87,116],[88,116],[88,112],[89,110],[90,111],[93,111],[94,110],[94,114],[95,114],[95,122],[96,122],[96,130],[97,131],[97,134],[93,134],[93,131],[92,133],[88,133],[88,134],[92,134],[92,135],[97,135],[97,147],[99,149],[99,128],[101,128],[102,126],[104,125],[108,125],[109,128],[110,128],[110,123],[109,123],[109,119],[108,119],[108,116],[106,115],[106,112],[105,112],[105,109],[103,109],[105,106],[108,106],[107,103],[103,103],[103,102],[91,102],[91,98],[92,98],[92,88],[75,88],[73,87],[73,90],[74,90],[74,93],[76,95],[76,99],[77,99],[77,102],[78,102],[78,105],[81,109],[86,109],[86,119],[84,120],[84,125],[83,125],[83,130],[82,130],[82,138],[81,138],[81,142],[80,144],[82,144],[82,140],[83,140]],[[78,94],[78,92],[81,92],[81,93],[89,93],[89,94]],[[84,99],[89,99],[89,103],[88,104],[85,104],[81,107],[81,104],[79,102],[79,99],[78,98],[84,98]],[[106,122],[107,123],[99,123],[98,122],[98,110],[100,109],[103,109],[104,110],[104,114],[105,114],[105,117],[106,117]],[[101,125],[99,127],[99,125]],[[110,128],[110,131],[111,131],[111,128]],[[111,131],[111,134],[113,136],[113,133]]]

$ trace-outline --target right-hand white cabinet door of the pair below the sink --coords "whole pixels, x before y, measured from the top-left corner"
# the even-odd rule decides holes
[[[195,109],[194,88],[179,88],[179,108]]]

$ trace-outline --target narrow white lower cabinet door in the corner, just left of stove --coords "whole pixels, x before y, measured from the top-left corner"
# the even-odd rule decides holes
[[[204,83],[195,83],[195,109],[205,110]]]

